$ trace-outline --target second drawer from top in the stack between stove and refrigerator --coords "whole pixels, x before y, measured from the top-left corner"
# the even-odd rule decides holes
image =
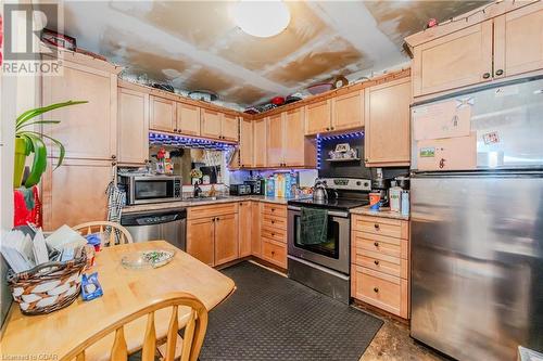
[[[353,231],[352,244],[355,248],[378,252],[383,255],[403,259],[407,259],[408,255],[407,240],[394,238],[386,235]]]

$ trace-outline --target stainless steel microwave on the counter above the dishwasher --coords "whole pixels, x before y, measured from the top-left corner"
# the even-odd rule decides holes
[[[181,199],[181,178],[176,176],[122,175],[119,184],[126,191],[128,205]]]

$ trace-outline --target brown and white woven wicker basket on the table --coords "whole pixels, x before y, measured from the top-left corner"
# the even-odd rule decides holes
[[[24,314],[46,314],[70,306],[81,291],[81,272],[87,262],[81,256],[66,262],[47,262],[26,272],[8,272],[8,284]]]

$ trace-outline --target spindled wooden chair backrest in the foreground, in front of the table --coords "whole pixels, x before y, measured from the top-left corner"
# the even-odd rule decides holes
[[[77,361],[85,361],[85,350],[113,332],[115,332],[115,337],[111,349],[110,360],[127,360],[128,350],[124,335],[124,325],[146,314],[147,326],[143,336],[141,360],[154,361],[156,350],[154,312],[167,307],[172,307],[172,315],[169,318],[169,326],[166,336],[166,356],[164,360],[173,361],[176,356],[177,332],[179,331],[178,309],[179,307],[189,307],[190,314],[185,325],[180,361],[197,361],[205,338],[205,331],[207,330],[207,309],[197,297],[188,293],[168,294],[163,299],[154,301],[152,305],[124,317],[73,348],[61,359],[61,361],[68,361],[74,358],[76,358]]]

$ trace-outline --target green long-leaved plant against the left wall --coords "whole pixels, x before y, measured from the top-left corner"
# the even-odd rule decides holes
[[[34,125],[59,124],[60,120],[36,120],[35,118],[43,113],[58,109],[64,106],[88,103],[87,101],[67,101],[64,103],[51,104],[43,107],[29,109],[21,114],[15,121],[15,166],[13,172],[13,188],[20,188],[23,182],[26,158],[34,153],[30,173],[25,181],[25,188],[30,188],[39,183],[41,175],[47,167],[47,147],[43,138],[49,139],[59,147],[59,159],[56,160],[55,169],[62,165],[64,159],[65,149],[61,142],[39,132],[27,130],[25,128]]]

